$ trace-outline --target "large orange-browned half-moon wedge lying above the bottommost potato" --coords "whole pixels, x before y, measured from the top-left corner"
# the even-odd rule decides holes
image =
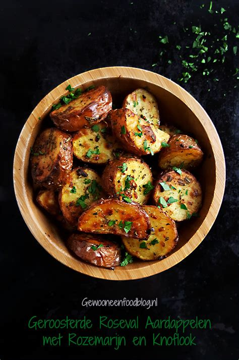
[[[147,239],[150,234],[149,216],[138,204],[113,198],[101,199],[79,217],[78,230]]]

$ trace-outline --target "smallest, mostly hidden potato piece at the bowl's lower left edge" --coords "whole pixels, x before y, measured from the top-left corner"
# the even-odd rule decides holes
[[[53,190],[40,190],[36,201],[51,215],[58,216],[61,213],[58,202],[58,194]]]

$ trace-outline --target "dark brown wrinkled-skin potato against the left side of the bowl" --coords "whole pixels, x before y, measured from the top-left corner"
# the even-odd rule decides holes
[[[31,149],[31,173],[36,185],[56,190],[72,168],[72,138],[61,130],[44,130]]]

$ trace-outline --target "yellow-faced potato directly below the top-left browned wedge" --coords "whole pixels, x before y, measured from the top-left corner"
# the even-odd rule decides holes
[[[105,164],[123,153],[122,145],[114,139],[104,122],[79,130],[72,144],[73,154],[78,159],[93,164]]]

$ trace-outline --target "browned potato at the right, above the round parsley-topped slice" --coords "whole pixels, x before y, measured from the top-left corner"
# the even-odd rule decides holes
[[[168,147],[163,148],[159,154],[158,164],[161,169],[173,166],[190,169],[202,161],[202,150],[188,135],[173,135],[167,145]]]

